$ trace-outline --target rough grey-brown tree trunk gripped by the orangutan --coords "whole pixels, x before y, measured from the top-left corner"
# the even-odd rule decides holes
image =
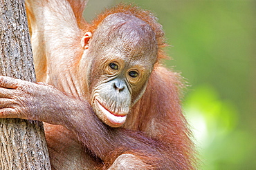
[[[35,82],[24,0],[0,0],[0,74]],[[0,119],[0,169],[51,169],[42,122]]]

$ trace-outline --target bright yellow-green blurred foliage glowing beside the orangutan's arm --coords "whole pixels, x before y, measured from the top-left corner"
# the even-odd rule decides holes
[[[203,169],[253,169],[244,164],[255,145],[253,134],[237,129],[240,118],[232,101],[221,100],[211,85],[200,85],[188,94],[184,107]]]

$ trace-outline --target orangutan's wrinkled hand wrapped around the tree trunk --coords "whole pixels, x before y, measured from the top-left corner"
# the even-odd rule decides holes
[[[55,101],[67,97],[54,87],[5,76],[0,76],[0,87],[1,118],[41,120],[51,124],[61,123],[63,118],[55,116],[54,113],[58,108],[63,108],[66,105]],[[50,103],[55,107],[49,107]],[[48,114],[52,115],[51,118],[48,118]]]

